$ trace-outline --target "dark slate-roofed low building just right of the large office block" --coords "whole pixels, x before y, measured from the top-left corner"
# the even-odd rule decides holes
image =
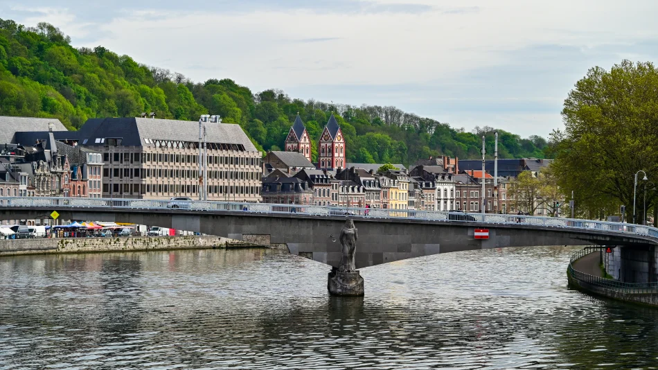
[[[297,177],[265,177],[261,194],[265,203],[313,204],[310,182]]]

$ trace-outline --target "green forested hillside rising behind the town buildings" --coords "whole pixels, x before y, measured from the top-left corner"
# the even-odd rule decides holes
[[[139,116],[197,121],[220,114],[237,123],[258,148],[281,150],[299,112],[317,139],[332,112],[342,127],[350,162],[412,164],[430,155],[480,156],[481,135],[493,154],[493,129],[464,132],[395,107],[337,105],[288,97],[283,91],[252,93],[229,79],[195,83],[179,73],[148,67],[103,46],[75,49],[58,28],[26,28],[0,19],[0,115],[56,117],[71,130],[87,118]],[[543,158],[546,141],[499,130],[501,158]]]

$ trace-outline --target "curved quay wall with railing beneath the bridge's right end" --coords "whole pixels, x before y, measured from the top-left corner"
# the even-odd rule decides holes
[[[574,255],[571,258],[569,267],[567,267],[567,279],[571,288],[618,301],[658,307],[657,283],[623,283],[616,279],[605,279],[574,269],[573,264],[578,259],[585,258],[588,255],[583,252],[585,251],[580,251]],[[594,251],[591,253],[600,254],[601,252]],[[594,258],[594,261],[598,261],[598,259]],[[596,267],[598,267],[598,264]]]

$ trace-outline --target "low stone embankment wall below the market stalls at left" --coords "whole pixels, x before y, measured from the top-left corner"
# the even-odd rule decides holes
[[[128,238],[37,238],[0,240],[0,256],[22,254],[150,251],[263,247],[219,236],[157,236]]]

